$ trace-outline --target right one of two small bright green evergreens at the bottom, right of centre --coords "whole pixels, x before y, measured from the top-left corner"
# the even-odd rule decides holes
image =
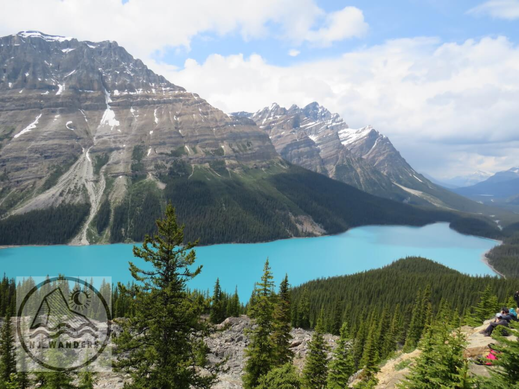
[[[344,322],[340,327],[340,337],[333,350],[333,359],[330,362],[327,378],[328,388],[343,389],[348,387],[348,380],[354,372],[355,361],[353,360],[351,339],[349,339],[348,324]]]

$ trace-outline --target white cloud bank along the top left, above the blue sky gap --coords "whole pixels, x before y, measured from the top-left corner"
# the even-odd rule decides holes
[[[348,26],[340,23],[347,22]],[[359,36],[362,12],[354,7],[327,14],[316,0],[9,0],[2,2],[0,36],[23,30],[116,40],[135,57],[184,47],[203,34],[239,34],[245,40],[274,37],[298,45]]]

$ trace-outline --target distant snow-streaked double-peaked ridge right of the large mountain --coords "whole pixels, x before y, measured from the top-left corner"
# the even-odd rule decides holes
[[[372,126],[350,129],[339,114],[317,102],[303,108],[273,103],[251,118],[285,160],[376,196],[417,205],[482,212],[476,203],[432,183],[415,171],[386,135]]]

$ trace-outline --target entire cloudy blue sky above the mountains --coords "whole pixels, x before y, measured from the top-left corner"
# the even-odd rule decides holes
[[[442,179],[519,165],[519,0],[1,0],[0,35],[115,40],[225,112],[313,101]]]

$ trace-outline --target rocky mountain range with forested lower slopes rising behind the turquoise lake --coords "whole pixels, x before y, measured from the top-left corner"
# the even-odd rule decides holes
[[[202,243],[481,207],[371,127],[349,129],[317,103],[227,115],[114,41],[24,31],[0,38],[0,66],[0,244],[139,241],[167,201]]]

